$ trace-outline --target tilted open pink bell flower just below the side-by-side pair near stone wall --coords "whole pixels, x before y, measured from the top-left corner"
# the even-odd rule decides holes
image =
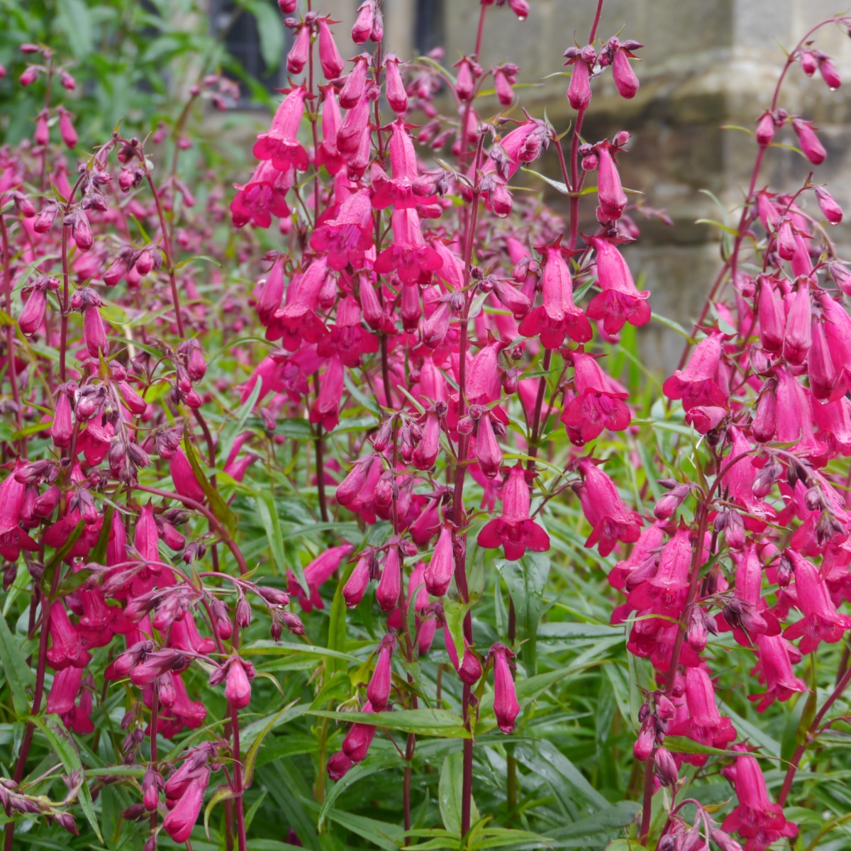
[[[628,394],[614,390],[597,360],[581,351],[572,351],[566,357],[574,364],[576,392],[562,414],[571,443],[584,446],[603,429],[623,431],[629,426],[630,410],[623,402]]]

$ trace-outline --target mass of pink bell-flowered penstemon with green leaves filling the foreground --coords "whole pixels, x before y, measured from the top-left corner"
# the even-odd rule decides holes
[[[633,209],[664,214],[628,202],[629,134],[582,134],[606,69],[623,98],[639,86],[642,45],[600,37],[603,0],[564,54],[563,131],[517,111],[517,66],[479,64],[488,15],[523,21],[526,0],[483,0],[452,68],[440,49],[384,52],[375,0],[350,63],[310,0],[279,6],[291,85],[229,217],[179,166],[193,107],[226,106],[233,83],[203,77],[173,123],[119,127],[71,173],[52,83],[73,77],[21,47],[44,108],[31,142],[0,150],[5,848],[81,818],[86,842],[144,851],[794,839],[784,807],[851,680],[848,651],[837,667],[822,649],[851,628],[851,270],[813,174],[791,194],[758,184],[787,124],[825,159],[781,84],[799,64],[836,89],[813,38],[851,19],[788,54],[722,271],[648,402],[621,383],[651,319],[622,246]],[[566,220],[511,183],[546,151]],[[564,660],[539,654],[545,635],[597,646]],[[716,689],[751,668],[734,712]],[[632,754],[600,765],[630,780],[592,778],[612,800],[554,745],[583,698],[543,706],[568,681],[625,725]],[[774,719],[797,701],[780,779],[748,700]],[[606,712],[598,753],[618,750]],[[710,768],[734,790],[724,814]],[[386,803],[346,812],[379,772],[398,823]],[[845,821],[800,831],[815,848]]]

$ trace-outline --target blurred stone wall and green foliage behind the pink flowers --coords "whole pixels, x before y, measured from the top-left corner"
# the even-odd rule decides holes
[[[573,117],[564,91],[563,52],[580,46],[591,25],[592,0],[529,0],[523,23],[507,8],[488,14],[483,66],[511,61],[520,66],[517,89],[530,113],[546,112],[557,130]],[[636,66],[641,88],[634,100],[622,100],[610,74],[594,84],[585,138],[597,141],[627,129],[629,153],[620,158],[626,187],[640,189],[650,207],[664,208],[673,220],[639,219],[641,239],[627,248],[631,267],[653,293],[654,315],[684,328],[700,311],[719,266],[724,209],[740,203],[750,179],[757,117],[771,99],[785,50],[808,29],[836,10],[832,0],[607,0],[599,36],[618,34],[644,47]],[[303,5],[303,4],[302,4]],[[340,24],[334,33],[344,58],[357,52],[349,39],[358,0],[317,0],[314,10]],[[227,111],[194,107],[192,145],[181,168],[212,163],[229,180],[250,171],[250,141],[268,122],[278,101],[277,88],[288,84],[283,61],[289,31],[272,0],[0,0],[0,141],[16,143],[31,135],[43,104],[43,91],[18,83],[26,66],[20,43],[49,43],[62,62],[71,60],[77,89],[67,106],[76,115],[82,144],[111,133],[119,120],[123,132],[146,134],[158,123],[173,123],[189,89],[209,73],[221,71],[240,83],[240,96]],[[477,0],[385,0],[386,44],[409,60],[443,47],[451,66],[473,49],[479,14]],[[816,45],[829,54],[851,89],[851,39],[837,28],[825,30]],[[574,41],[575,39],[575,41]],[[59,55],[60,51],[64,55]],[[553,76],[555,75],[555,76]],[[793,68],[780,106],[814,119],[828,157],[816,180],[828,182],[837,200],[851,203],[848,131],[849,97],[831,93],[820,76],[808,79]],[[477,101],[478,104],[478,101]],[[446,104],[448,108],[451,105]],[[495,99],[479,109],[499,111]],[[424,117],[414,115],[414,123]],[[724,129],[738,128],[738,129]],[[794,141],[791,128],[776,141]],[[194,158],[193,158],[194,157]],[[560,179],[552,152],[535,168]],[[809,170],[791,147],[776,147],[767,158],[757,186],[795,189]],[[221,173],[221,171],[220,171]],[[524,175],[529,186],[543,184]],[[534,182],[533,182],[534,181]],[[563,197],[547,188],[552,207],[561,212]],[[811,202],[813,203],[813,202]],[[719,206],[720,205],[720,206]],[[593,222],[586,223],[587,228]],[[848,242],[837,229],[840,254]],[[648,366],[670,372],[682,340],[670,323],[643,329],[640,346]]]

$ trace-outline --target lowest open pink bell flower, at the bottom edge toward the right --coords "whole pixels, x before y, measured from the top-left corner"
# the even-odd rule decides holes
[[[797,836],[797,825],[786,821],[783,808],[768,797],[762,769],[754,757],[736,758],[734,785],[739,806],[724,819],[722,828],[728,833],[738,831],[747,839],[745,851],[764,851],[780,837]]]

